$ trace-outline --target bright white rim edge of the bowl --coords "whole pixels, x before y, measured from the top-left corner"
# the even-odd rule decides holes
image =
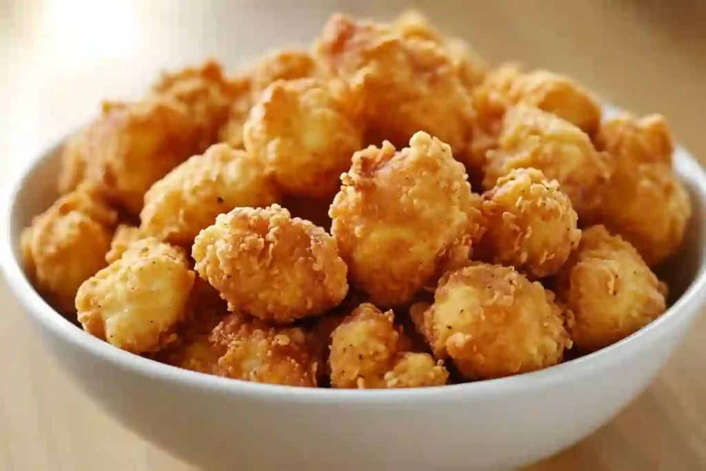
[[[616,114],[618,109],[606,105],[604,115]],[[13,249],[13,215],[18,206],[18,194],[26,184],[27,179],[42,162],[54,155],[66,138],[62,139],[35,157],[25,161],[8,177],[3,198],[0,201],[0,268],[4,273],[9,287],[35,321],[51,331],[62,341],[76,345],[86,354],[94,355],[104,362],[119,369],[131,371],[138,376],[146,376],[159,381],[177,383],[186,388],[210,390],[225,395],[257,398],[259,400],[290,401],[293,403],[333,403],[359,405],[385,405],[390,403],[416,403],[419,400],[444,400],[464,398],[472,400],[477,397],[487,397],[501,393],[521,392],[528,389],[546,388],[556,383],[578,378],[589,370],[601,369],[607,364],[621,358],[621,354],[640,348],[659,335],[659,330],[676,323],[680,311],[688,306],[698,306],[706,301],[706,260],[703,260],[695,278],[686,291],[679,297],[662,316],[652,321],[644,328],[626,338],[609,345],[597,352],[569,360],[539,371],[533,371],[504,378],[460,383],[447,386],[409,389],[371,389],[348,390],[332,388],[300,388],[252,383],[250,381],[233,380],[208,374],[181,369],[176,366],[162,364],[152,359],[120,350],[103,340],[86,333],[55,311],[38,294],[24,273],[19,260],[19,250]],[[676,145],[674,149],[674,168],[682,179],[695,183],[698,199],[706,205],[706,172],[693,155],[683,147]],[[706,225],[706,213],[702,215]]]

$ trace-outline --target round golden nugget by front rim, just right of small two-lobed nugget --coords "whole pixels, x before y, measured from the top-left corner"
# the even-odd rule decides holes
[[[446,273],[423,316],[412,309],[436,357],[450,357],[469,379],[543,369],[571,346],[554,294],[514,268],[477,263]]]

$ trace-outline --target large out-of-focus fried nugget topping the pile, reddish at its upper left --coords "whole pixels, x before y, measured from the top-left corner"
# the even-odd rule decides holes
[[[370,141],[404,145],[420,130],[453,149],[469,139],[472,100],[453,59],[438,44],[337,14],[313,54],[328,73],[360,93]]]

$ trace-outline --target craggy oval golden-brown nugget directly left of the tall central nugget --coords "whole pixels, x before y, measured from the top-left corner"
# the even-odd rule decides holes
[[[348,292],[335,240],[280,205],[219,215],[196,237],[192,255],[231,311],[266,321],[317,316]]]

